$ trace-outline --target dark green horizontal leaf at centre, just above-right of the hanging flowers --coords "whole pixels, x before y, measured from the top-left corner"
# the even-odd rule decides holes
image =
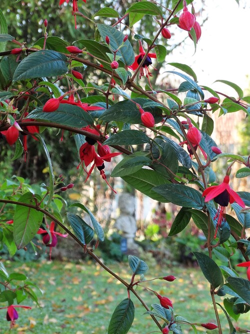
[[[138,130],[124,130],[118,132],[104,141],[105,145],[139,145],[150,143],[150,138]]]

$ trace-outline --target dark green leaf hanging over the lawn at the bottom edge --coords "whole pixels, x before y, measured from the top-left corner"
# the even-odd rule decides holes
[[[129,298],[123,299],[115,308],[107,334],[126,334],[133,323],[134,306]]]

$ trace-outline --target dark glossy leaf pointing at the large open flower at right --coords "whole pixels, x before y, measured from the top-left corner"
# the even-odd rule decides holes
[[[188,208],[201,209],[204,200],[201,193],[182,184],[163,184],[153,187],[153,191],[163,196],[168,202]]]

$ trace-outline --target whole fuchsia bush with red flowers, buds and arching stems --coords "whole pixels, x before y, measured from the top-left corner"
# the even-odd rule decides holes
[[[81,21],[87,20],[80,12],[84,4],[76,0],[66,0],[66,3],[66,10],[72,10],[75,29],[81,29]],[[209,6],[209,1],[205,3]],[[64,6],[64,1],[60,0],[58,5]],[[7,15],[4,18],[0,13],[0,134],[13,150],[12,160],[25,156],[30,141],[38,141],[49,171],[42,193],[32,191],[21,177],[17,177],[14,184],[1,180],[0,229],[4,237],[0,242],[5,242],[13,255],[33,242],[38,233],[49,247],[51,256],[57,236],[72,237],[85,253],[127,290],[127,298],[120,301],[106,326],[108,334],[126,334],[133,322],[133,300],[136,298],[144,306],[146,314],[151,315],[155,331],[163,334],[178,334],[182,332],[182,327],[188,326],[196,332],[196,325],[221,334],[220,316],[226,316],[228,330],[234,333],[233,306],[240,304],[237,309],[241,313],[250,309],[250,244],[246,234],[250,228],[250,199],[249,192],[232,190],[230,184],[234,177],[249,176],[250,156],[221,152],[211,138],[211,114],[226,117],[227,112],[240,110],[247,117],[250,97],[244,97],[236,84],[222,81],[234,89],[237,97],[226,96],[221,102],[224,93],[200,87],[194,71],[188,65],[179,63],[174,63],[174,66],[180,72],[172,71],[171,65],[165,65],[166,71],[181,80],[179,85],[165,90],[158,89],[156,85],[152,87],[151,77],[157,62],[167,60],[166,43],[173,38],[174,27],[184,30],[196,48],[202,28],[196,21],[195,1],[173,1],[168,9],[160,2],[132,2],[123,17],[111,7],[100,7],[102,10],[94,19],[96,31],[93,31],[92,40],[63,41],[58,37],[52,46],[50,40],[49,48],[46,47],[50,38],[47,29],[53,25],[52,20],[46,18],[44,21],[42,48],[36,43],[28,45],[16,41],[7,32]],[[102,16],[110,20],[110,25],[99,23],[96,18]],[[156,23],[152,40],[136,34],[135,24],[144,16],[151,17]],[[120,24],[125,22],[129,24],[126,35],[120,31]],[[136,49],[130,43],[133,39],[138,41]],[[85,55],[90,56],[91,61],[86,60]],[[11,67],[5,65],[9,62]],[[81,65],[91,72],[87,77],[91,78],[89,82],[85,78],[84,67],[75,70]],[[104,84],[96,80],[100,73],[105,78]],[[58,89],[62,79],[67,80],[67,88],[63,92]],[[205,99],[204,94],[210,97]],[[93,96],[94,104],[91,102]],[[179,206],[169,237],[185,227],[188,229],[188,223],[193,220],[206,238],[205,251],[194,252],[194,255],[204,279],[210,283],[207,293],[211,295],[216,324],[206,322],[205,318],[201,323],[200,319],[185,319],[176,315],[175,307],[167,297],[167,285],[162,287],[165,296],[146,287],[152,301],[151,305],[146,305],[139,295],[140,287],[144,287],[147,281],[144,277],[148,269],[146,262],[129,255],[131,281],[124,281],[95,255],[94,249],[104,240],[104,233],[87,207],[76,202],[73,206],[79,209],[79,215],[71,213],[70,207],[66,216],[54,213],[55,200],[58,199],[56,194],[67,194],[66,190],[71,189],[73,184],[65,186],[61,175],[54,176],[53,161],[47,149],[49,143],[44,141],[47,128],[54,129],[55,135],[58,129],[61,130],[66,145],[76,145],[79,164],[75,167],[75,176],[82,171],[85,182],[89,181],[96,167],[101,182],[106,182],[111,188],[109,176],[104,172],[105,164],[122,154],[111,177],[121,177],[129,186],[154,200]],[[77,140],[74,141],[75,138]],[[133,152],[131,148],[134,145],[144,148]],[[215,173],[214,177],[209,176],[213,162],[218,159],[226,165],[226,174],[222,179]],[[231,170],[235,165],[234,175]],[[112,188],[107,189],[115,192]],[[92,227],[82,220],[81,213],[89,215]],[[55,228],[65,233],[56,232]],[[95,246],[90,247],[93,239],[96,240]],[[227,265],[216,263],[215,250],[227,259]],[[245,259],[239,266],[248,267],[248,279],[244,273],[241,277],[233,268],[239,255]],[[155,279],[174,285],[172,274],[166,273],[166,276]],[[39,302],[32,285],[25,284],[25,281],[26,276],[22,273],[7,274],[3,265],[0,267],[0,286],[3,287],[0,290],[0,308],[7,308],[6,319],[11,327],[18,317],[15,308],[30,308],[16,303],[22,303],[28,296]],[[234,302],[229,302],[231,295],[235,298]],[[217,296],[224,296],[226,302],[221,304]],[[223,315],[219,315],[220,308]],[[2,312],[2,319],[4,316]],[[247,328],[237,328],[249,332]]]

